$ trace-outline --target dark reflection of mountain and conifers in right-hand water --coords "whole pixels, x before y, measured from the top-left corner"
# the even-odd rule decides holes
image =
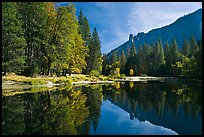
[[[104,99],[127,111],[131,120],[148,120],[179,134],[186,128],[202,131],[202,85],[130,82],[120,87],[117,94],[119,89],[103,86]],[[197,123],[197,127],[193,127],[192,122]],[[178,129],[178,126],[181,127]]]

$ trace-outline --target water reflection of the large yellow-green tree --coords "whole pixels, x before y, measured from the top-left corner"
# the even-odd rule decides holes
[[[66,92],[66,91],[63,91]],[[77,128],[80,127],[88,117],[88,108],[85,106],[86,96],[81,91],[72,91],[68,96],[58,94],[51,96],[51,106],[48,121],[54,126],[47,133],[54,134],[78,134]],[[49,126],[50,126],[49,125]]]

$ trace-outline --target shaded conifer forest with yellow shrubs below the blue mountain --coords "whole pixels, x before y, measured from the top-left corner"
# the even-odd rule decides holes
[[[127,55],[127,56],[126,56]],[[184,40],[182,49],[178,49],[176,40],[162,46],[161,40],[152,45],[144,44],[136,51],[134,43],[127,53],[111,57],[103,56],[105,75],[151,75],[174,76],[180,78],[202,79],[202,40]]]

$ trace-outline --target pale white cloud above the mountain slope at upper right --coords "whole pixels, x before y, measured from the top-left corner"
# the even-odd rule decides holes
[[[148,2],[134,3],[128,15],[127,24],[133,33],[148,32],[173,23],[179,17],[201,7],[198,2]],[[179,8],[178,8],[179,7]]]

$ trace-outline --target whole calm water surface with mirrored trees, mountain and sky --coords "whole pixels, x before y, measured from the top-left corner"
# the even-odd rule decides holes
[[[202,134],[198,84],[126,82],[24,92],[2,96],[4,135]]]

